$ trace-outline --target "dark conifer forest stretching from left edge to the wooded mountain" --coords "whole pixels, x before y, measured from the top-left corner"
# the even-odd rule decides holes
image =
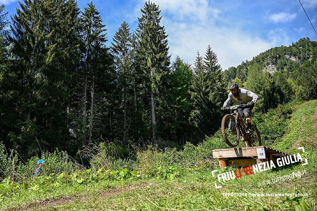
[[[93,3],[25,0],[0,7],[0,143],[24,161],[90,143],[197,144],[218,131],[228,85],[259,95],[255,113],[316,99],[317,42],[302,38],[222,70],[212,46],[171,61],[159,6],[107,37]],[[112,40],[107,46],[107,40]],[[10,152],[8,152],[10,153]]]

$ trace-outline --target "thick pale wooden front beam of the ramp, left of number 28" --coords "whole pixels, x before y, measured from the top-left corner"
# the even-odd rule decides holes
[[[245,149],[249,148],[249,149]],[[214,151],[212,152],[214,158],[237,158],[237,157],[251,157],[257,156],[256,148],[254,147],[244,147],[244,148],[233,148],[224,151]]]

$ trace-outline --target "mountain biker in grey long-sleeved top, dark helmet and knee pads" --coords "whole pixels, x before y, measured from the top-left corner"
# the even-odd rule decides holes
[[[237,101],[239,101],[240,105],[247,104],[247,106],[245,106],[245,107],[238,108],[238,112],[242,116],[245,116],[245,119],[248,123],[248,129],[246,130],[246,133],[252,134],[251,110],[253,109],[254,104],[259,99],[259,97],[256,94],[254,94],[253,92],[251,92],[250,90],[246,90],[243,88],[239,89],[239,86],[236,83],[231,84],[229,90],[230,90],[230,93],[228,95],[228,99],[223,103],[223,107],[221,107],[221,109],[225,109],[232,99],[236,99]]]

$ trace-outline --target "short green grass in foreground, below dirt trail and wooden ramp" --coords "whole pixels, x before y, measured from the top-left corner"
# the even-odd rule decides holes
[[[155,184],[131,189],[115,196],[92,197],[58,207],[59,210],[295,210],[300,199],[286,197],[224,197],[223,192],[246,193],[308,193],[306,206],[316,198],[316,183],[304,183],[308,177],[276,183],[272,186],[257,187],[257,183],[281,174],[302,170],[301,167],[285,169],[281,172],[264,172],[257,176],[242,177],[215,189],[210,171],[188,172],[174,181],[154,180]],[[316,181],[315,181],[316,182]],[[42,210],[54,210],[50,207]]]

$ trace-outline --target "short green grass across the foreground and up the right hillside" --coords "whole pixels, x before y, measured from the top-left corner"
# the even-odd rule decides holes
[[[316,116],[315,116],[316,115]],[[34,210],[301,210],[301,198],[260,197],[260,196],[223,196],[222,193],[308,193],[305,204],[308,210],[316,210],[317,204],[317,100],[306,102],[298,107],[289,121],[286,133],[275,142],[275,149],[297,153],[297,147],[304,146],[304,157],[308,165],[294,165],[289,168],[275,169],[245,176],[222,184],[216,189],[217,182],[208,169],[186,168],[173,181],[165,179],[142,179],[101,181],[77,186],[52,188],[47,192],[11,197],[1,203],[0,208],[18,210],[25,208],[27,202],[38,199],[56,199],[63,196],[82,196],[58,207],[37,207]],[[302,155],[302,153],[301,153]],[[229,171],[231,168],[226,169]],[[259,182],[271,178],[306,170],[301,178],[290,179],[264,187]],[[143,184],[143,185],[140,185]],[[118,186],[134,188],[113,192],[100,197],[100,192]],[[304,208],[302,209],[304,210]]]

